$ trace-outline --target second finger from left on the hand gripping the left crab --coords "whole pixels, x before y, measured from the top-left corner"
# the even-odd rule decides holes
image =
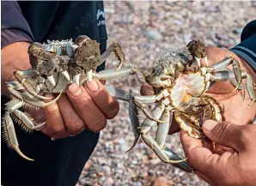
[[[64,119],[64,124],[68,131],[67,135],[78,135],[86,128],[82,118],[76,113],[76,109],[71,104],[67,95],[58,99],[58,108]]]

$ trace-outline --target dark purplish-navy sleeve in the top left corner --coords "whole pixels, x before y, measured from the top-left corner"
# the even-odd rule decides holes
[[[1,11],[1,49],[19,41],[34,41],[34,35],[17,2],[1,1]]]

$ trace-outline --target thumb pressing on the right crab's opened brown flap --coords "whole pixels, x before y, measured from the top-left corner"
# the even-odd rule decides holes
[[[226,147],[241,151],[245,147],[246,135],[242,125],[235,125],[231,122],[217,123],[213,120],[206,120],[203,123],[204,135]]]

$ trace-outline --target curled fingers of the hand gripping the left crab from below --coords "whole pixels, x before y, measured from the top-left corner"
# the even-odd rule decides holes
[[[53,94],[46,93],[47,97]],[[81,87],[72,83],[66,94],[57,103],[46,106],[45,111],[34,113],[40,122],[46,119],[41,131],[52,139],[78,135],[83,129],[99,132],[104,129],[107,119],[119,112],[119,102],[113,99],[101,81],[92,80]]]

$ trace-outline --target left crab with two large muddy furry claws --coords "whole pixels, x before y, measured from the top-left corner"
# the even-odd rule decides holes
[[[86,35],[78,36],[75,42],[72,39],[48,40],[47,44],[34,42],[29,45],[27,53],[32,69],[14,71],[15,80],[7,82],[11,100],[5,104],[3,116],[3,139],[22,158],[34,161],[21,152],[13,120],[26,131],[40,130],[46,123],[35,123],[34,118],[20,111],[20,108],[52,105],[72,82],[81,86],[92,78],[103,81],[136,74],[135,68],[122,67],[125,54],[118,43],[113,42],[102,55],[99,46],[99,43]],[[96,68],[113,56],[119,60],[119,67],[97,73]],[[58,96],[50,100],[44,93],[58,93]]]

